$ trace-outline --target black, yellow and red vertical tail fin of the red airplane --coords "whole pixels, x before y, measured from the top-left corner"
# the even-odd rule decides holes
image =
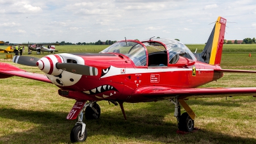
[[[218,17],[203,52],[195,54],[198,61],[211,65],[220,65],[226,22],[227,20],[223,17]]]

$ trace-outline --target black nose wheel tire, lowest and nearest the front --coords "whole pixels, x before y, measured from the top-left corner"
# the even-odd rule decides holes
[[[73,127],[73,129],[70,132],[70,140],[72,143],[76,142],[83,142],[87,138],[87,130],[84,129],[84,135],[81,136],[82,131],[82,125],[76,125]]]

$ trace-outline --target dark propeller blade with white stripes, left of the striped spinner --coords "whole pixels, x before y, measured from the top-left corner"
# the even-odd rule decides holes
[[[20,65],[28,65],[31,67],[36,67],[36,61],[39,58],[34,58],[32,56],[14,56],[12,61],[13,63],[19,63]]]

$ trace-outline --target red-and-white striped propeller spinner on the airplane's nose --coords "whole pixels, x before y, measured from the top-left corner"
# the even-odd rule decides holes
[[[45,74],[58,76],[63,70],[56,68],[56,63],[63,63],[63,59],[58,54],[53,54],[38,60],[36,66]]]

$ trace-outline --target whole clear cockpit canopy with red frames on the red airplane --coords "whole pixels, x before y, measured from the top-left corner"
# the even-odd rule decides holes
[[[177,40],[164,38],[151,38],[142,42],[123,40],[110,45],[100,53],[109,52],[128,56],[136,67],[188,65],[196,61],[194,54],[186,45]]]

